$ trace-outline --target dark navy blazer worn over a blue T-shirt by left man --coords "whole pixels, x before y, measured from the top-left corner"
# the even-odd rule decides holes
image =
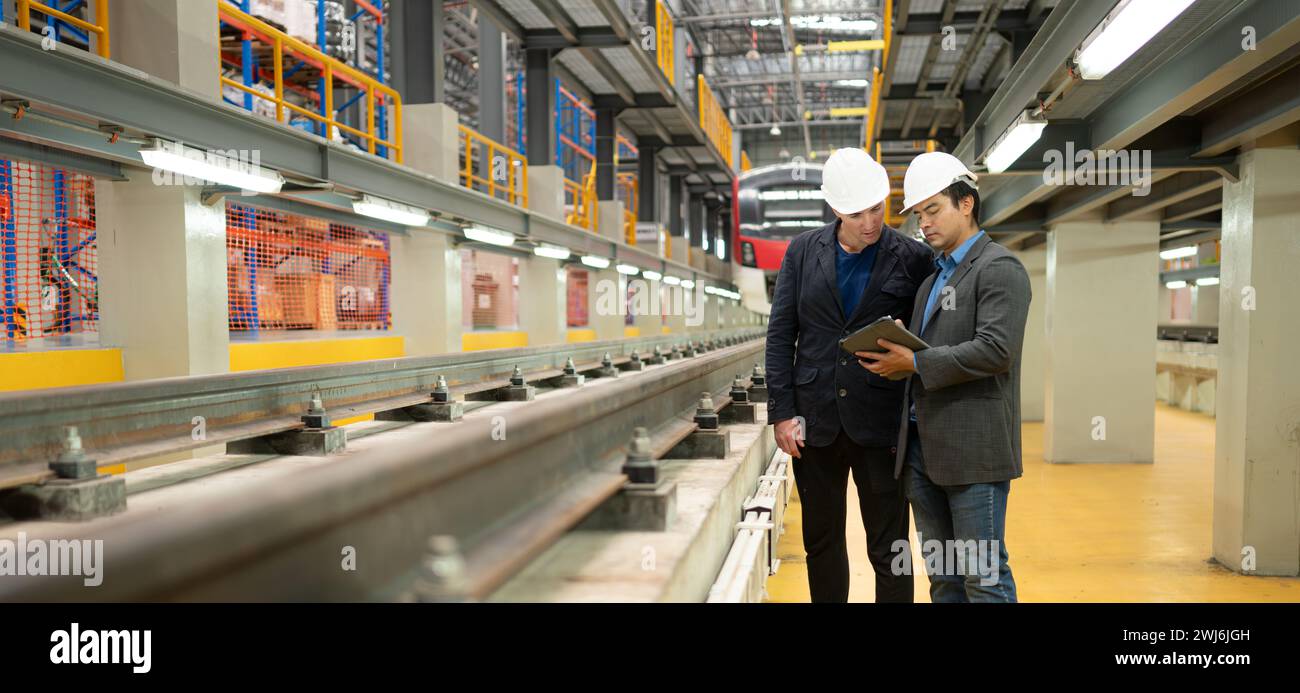
[[[838,342],[881,316],[911,320],[916,289],[936,272],[935,254],[884,226],[871,281],[845,316],[836,282],[838,229],[832,221],[785,250],[767,322],[767,420],[802,416],[805,442],[816,447],[835,442],[841,428],[858,445],[890,447],[906,381],[867,371]]]

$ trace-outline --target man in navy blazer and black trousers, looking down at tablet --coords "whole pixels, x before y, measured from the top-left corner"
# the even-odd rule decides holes
[[[812,601],[849,598],[852,471],[876,601],[911,602],[913,576],[890,567],[909,534],[893,473],[904,382],[858,368],[838,341],[881,316],[910,316],[933,254],[884,225],[889,176],[866,151],[832,153],[822,181],[836,220],[790,241],[781,261],[767,326],[767,417],[794,458]]]

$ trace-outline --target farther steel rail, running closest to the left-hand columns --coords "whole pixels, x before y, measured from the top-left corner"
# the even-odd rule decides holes
[[[0,489],[51,478],[64,426],[77,426],[86,454],[103,467],[303,428],[313,394],[341,420],[429,402],[439,374],[454,395],[474,397],[508,385],[516,365],[536,381],[559,376],[567,358],[590,371],[606,352],[618,364],[633,350],[649,358],[655,346],[668,352],[688,338],[722,343],[760,334],[736,328],[4,394]]]

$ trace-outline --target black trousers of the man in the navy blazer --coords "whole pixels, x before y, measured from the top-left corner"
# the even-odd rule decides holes
[[[803,510],[803,549],[812,601],[849,601],[845,517],[852,469],[867,530],[867,556],[876,573],[876,602],[911,603],[911,571],[894,575],[890,569],[898,555],[894,542],[907,541],[907,499],[902,484],[893,478],[893,449],[863,447],[840,430],[829,446],[806,446],[800,454],[793,462],[794,484]]]

